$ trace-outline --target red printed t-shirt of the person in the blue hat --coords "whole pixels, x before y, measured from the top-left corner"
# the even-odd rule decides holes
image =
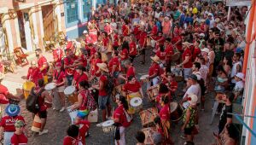
[[[3,127],[4,131],[15,132],[15,122],[17,120],[22,120],[25,122],[24,118],[20,115],[15,117],[4,116],[0,122],[0,126]]]

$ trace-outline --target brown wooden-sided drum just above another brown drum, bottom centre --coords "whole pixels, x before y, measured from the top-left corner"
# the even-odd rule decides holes
[[[140,112],[143,127],[154,125],[154,118],[158,116],[156,107],[149,107]]]

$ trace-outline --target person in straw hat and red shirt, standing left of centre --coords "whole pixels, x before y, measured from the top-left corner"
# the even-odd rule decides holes
[[[108,113],[108,118],[110,119],[111,115],[111,105],[110,105],[110,96],[108,96],[108,91],[106,90],[106,84],[108,83],[107,76],[108,74],[108,66],[106,63],[98,63],[97,67],[99,67],[102,75],[99,80],[99,85],[93,85],[92,88],[99,90],[99,108],[102,110],[102,122],[106,121],[106,116]],[[107,110],[106,110],[107,109]],[[108,112],[107,112],[108,111]],[[97,127],[102,127],[102,123],[96,125]]]

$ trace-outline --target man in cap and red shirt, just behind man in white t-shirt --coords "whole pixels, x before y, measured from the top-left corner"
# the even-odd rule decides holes
[[[183,66],[184,80],[187,80],[192,73],[193,63],[192,63],[192,53],[189,49],[190,45],[191,44],[189,44],[188,42],[183,43],[183,48],[184,48],[183,55],[182,55],[183,62],[177,65],[177,67]]]

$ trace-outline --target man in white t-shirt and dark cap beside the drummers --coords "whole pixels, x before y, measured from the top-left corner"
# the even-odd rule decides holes
[[[188,102],[189,94],[194,94],[195,96],[198,97],[197,103],[201,102],[201,87],[200,87],[200,84],[197,83],[197,79],[198,78],[195,74],[191,74],[189,76],[189,79],[187,82],[189,89],[186,91],[185,95],[183,96],[183,100],[181,102],[184,108],[189,107],[189,102]]]

